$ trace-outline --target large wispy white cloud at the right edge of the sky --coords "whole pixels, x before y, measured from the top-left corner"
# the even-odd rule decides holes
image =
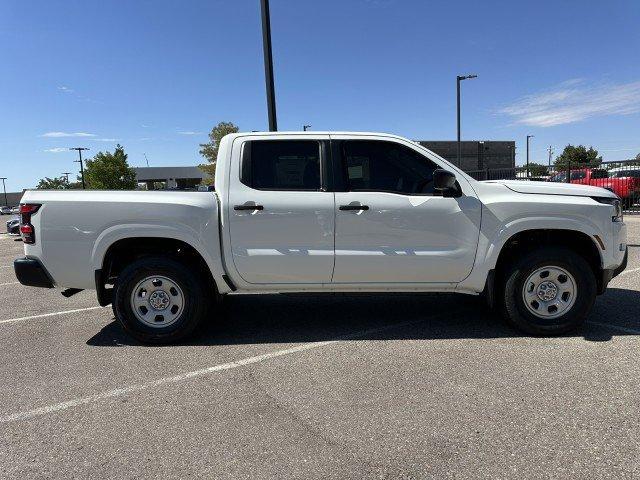
[[[640,112],[640,81],[588,85],[573,79],[545,92],[526,95],[498,113],[517,125],[552,127],[592,117],[630,115]]]

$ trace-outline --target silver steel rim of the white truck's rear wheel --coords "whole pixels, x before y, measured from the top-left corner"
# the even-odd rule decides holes
[[[149,276],[131,292],[131,309],[145,325],[163,328],[174,323],[184,308],[184,294],[176,282],[160,275]]]

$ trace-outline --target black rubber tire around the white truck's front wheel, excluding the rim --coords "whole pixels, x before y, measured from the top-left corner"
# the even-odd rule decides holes
[[[532,314],[523,298],[523,286],[529,275],[545,266],[557,266],[573,276],[576,293],[573,305],[559,317],[540,318]],[[534,250],[509,268],[504,275],[498,299],[504,316],[515,328],[531,335],[560,335],[578,328],[588,315],[596,298],[596,278],[586,260],[561,247]]]

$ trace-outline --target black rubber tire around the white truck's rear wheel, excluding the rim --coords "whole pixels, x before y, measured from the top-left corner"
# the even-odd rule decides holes
[[[131,295],[138,282],[159,275],[173,281],[184,296],[182,313],[165,327],[152,327],[133,312]],[[202,322],[208,309],[206,282],[193,269],[161,257],[145,257],[127,266],[118,276],[113,292],[113,312],[122,328],[136,340],[151,344],[175,343],[188,337]]]

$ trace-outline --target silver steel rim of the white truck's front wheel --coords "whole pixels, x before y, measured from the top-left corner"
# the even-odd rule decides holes
[[[573,275],[553,265],[538,268],[522,284],[522,299],[527,310],[545,320],[567,313],[576,302],[577,293]]]

